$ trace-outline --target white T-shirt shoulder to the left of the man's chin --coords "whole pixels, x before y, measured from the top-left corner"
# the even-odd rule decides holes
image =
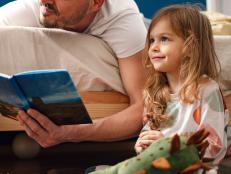
[[[38,0],[16,0],[0,8],[0,26],[40,27]]]

